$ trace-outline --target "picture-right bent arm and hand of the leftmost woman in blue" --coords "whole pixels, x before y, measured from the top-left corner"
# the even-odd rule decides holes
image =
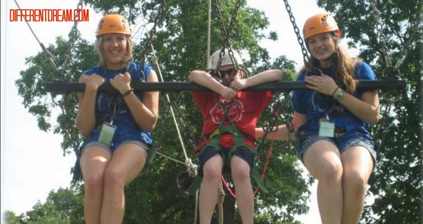
[[[158,78],[156,72],[151,70],[148,74],[148,82],[157,82]],[[111,84],[121,94],[131,90],[131,75],[129,73],[118,74],[111,79]],[[156,92],[145,92],[143,93],[143,101],[136,96],[135,93],[129,93],[127,96],[123,96],[126,105],[131,111],[133,119],[136,124],[146,131],[153,131],[156,127],[158,120],[158,96]]]

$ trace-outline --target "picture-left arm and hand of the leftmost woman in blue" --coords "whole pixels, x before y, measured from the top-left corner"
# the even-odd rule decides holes
[[[96,128],[96,95],[98,87],[104,83],[104,78],[96,73],[91,76],[82,74],[79,82],[85,83],[86,87],[83,93],[77,93],[78,113],[76,115],[76,128],[78,128],[82,136],[86,137]]]

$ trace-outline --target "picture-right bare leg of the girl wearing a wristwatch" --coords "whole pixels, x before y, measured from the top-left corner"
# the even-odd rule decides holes
[[[341,154],[344,192],[342,223],[358,223],[365,207],[367,181],[373,170],[373,160],[369,151],[361,146],[348,148]]]

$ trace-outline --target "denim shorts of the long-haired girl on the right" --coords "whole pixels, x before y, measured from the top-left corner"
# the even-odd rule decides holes
[[[300,158],[300,161],[302,161],[302,155],[304,155],[305,151],[307,151],[312,144],[314,144],[317,141],[328,141],[335,146],[337,146],[337,150],[342,153],[343,151],[347,150],[347,148],[351,148],[352,146],[362,146],[364,148],[367,148],[370,155],[373,159],[373,166],[376,167],[376,161],[377,161],[377,153],[374,149],[374,143],[370,139],[365,138],[361,133],[342,133],[335,135],[334,138],[329,137],[323,137],[315,135],[310,136],[303,136],[299,141],[299,147],[297,156]]]

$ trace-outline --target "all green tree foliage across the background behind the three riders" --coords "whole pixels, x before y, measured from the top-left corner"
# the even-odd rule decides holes
[[[163,8],[161,3],[165,2]],[[221,1],[218,1],[221,2]],[[136,1],[86,1],[96,11],[120,13],[131,22],[140,16],[146,16],[149,27],[158,21],[152,44],[156,51],[158,68],[165,81],[186,81],[189,71],[205,69],[207,63],[207,28],[208,3],[198,0],[184,1],[142,1],[141,7]],[[250,73],[264,71],[267,68],[280,68],[287,80],[295,74],[293,61],[285,56],[270,61],[266,49],[260,46],[262,39],[277,40],[277,34],[265,34],[263,30],[269,25],[264,12],[245,6],[238,11],[235,26],[230,36],[234,49],[248,55],[245,64]],[[319,0],[319,6],[331,12],[342,29],[343,36],[350,38],[350,46],[360,49],[360,57],[369,62],[379,78],[392,76],[385,69],[384,48],[378,37],[377,20],[372,15],[369,2]],[[223,22],[228,27],[233,14],[235,1],[220,3]],[[382,147],[378,149],[377,170],[370,180],[370,195],[374,203],[367,205],[363,223],[421,223],[422,222],[422,0],[417,1],[377,1],[382,31],[386,36],[389,54],[395,63],[402,56],[402,49],[407,40],[415,32],[410,42],[407,57],[400,67],[401,78],[407,80],[407,91],[401,93],[382,94],[382,120],[372,128],[376,139],[382,139]],[[161,11],[160,11],[161,10]],[[215,11],[212,12],[215,15]],[[220,49],[223,36],[218,20],[213,16],[211,22],[211,51]],[[293,35],[293,34],[292,34]],[[144,58],[153,64],[153,52],[147,45],[148,39],[135,40],[135,58]],[[19,95],[24,98],[23,104],[33,114],[43,131],[52,130],[63,136],[61,148],[63,154],[75,152],[83,143],[74,126],[76,118],[76,97],[74,93],[63,96],[51,96],[44,86],[51,81],[77,81],[84,70],[98,63],[93,56],[93,43],[78,39],[70,55],[66,55],[68,43],[58,37],[55,44],[48,46],[56,65],[71,57],[66,68],[55,71],[50,61],[39,53],[26,58],[28,68],[21,71],[21,78],[16,81]],[[146,51],[146,48],[148,51]],[[243,56],[245,56],[243,54]],[[156,71],[159,71],[156,68]],[[164,95],[165,93],[162,93]],[[160,98],[159,125],[153,131],[155,146],[159,152],[177,161],[185,162],[184,153],[170,116],[170,106],[176,113],[183,144],[188,158],[196,163],[193,147],[198,143],[202,128],[200,111],[196,108],[189,93],[172,93]],[[290,98],[287,93],[275,96],[275,101],[282,101],[284,109],[280,123],[290,121]],[[394,99],[389,108],[389,99]],[[270,118],[270,108],[260,118],[260,125]],[[288,111],[287,113],[285,111]],[[54,121],[54,119],[56,119]],[[301,178],[301,170],[295,156],[295,147],[287,143],[275,142],[274,150],[267,166],[265,185],[270,193],[259,193],[255,196],[256,223],[295,222],[294,215],[307,213],[307,198],[310,192],[307,183]],[[270,143],[259,148],[259,172],[263,172]],[[126,188],[126,214],[124,223],[192,223],[195,214],[195,198],[181,193],[175,184],[175,178],[186,170],[183,164],[170,161],[163,156],[156,156],[152,166]],[[78,180],[78,170],[73,170]],[[230,182],[230,179],[229,179]],[[73,182],[76,188],[83,183]],[[45,204],[34,205],[34,210],[26,216],[16,217],[11,212],[6,218],[13,222],[49,223],[61,220],[64,223],[79,223],[82,218],[82,195],[78,191],[74,195],[66,193],[49,195]],[[235,200],[226,194],[226,208],[234,208]],[[75,198],[76,197],[76,198]],[[60,203],[61,202],[61,203]],[[232,210],[225,212],[233,215],[235,222],[240,220],[239,214]],[[49,214],[49,215],[46,215]],[[217,214],[215,215],[217,216]],[[216,218],[216,217],[215,217]]]

